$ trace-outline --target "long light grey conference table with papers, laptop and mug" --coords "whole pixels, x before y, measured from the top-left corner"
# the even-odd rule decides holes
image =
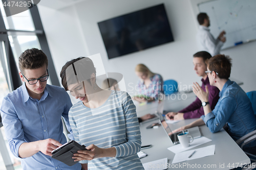
[[[180,98],[178,98],[178,96],[180,96]],[[175,93],[173,94],[172,98],[168,96],[168,98],[165,99],[164,110],[177,112],[188,106],[195,99],[196,96],[194,93]],[[138,116],[143,116],[147,113],[154,113],[157,110],[157,106],[157,102],[152,102],[143,106],[137,106],[136,111]],[[171,130],[175,130],[181,126],[193,122],[194,120],[196,119],[185,119],[175,124],[168,124],[168,126]],[[152,123],[158,122],[159,120],[156,119],[152,120],[151,122],[142,122],[140,124],[142,145],[152,145],[152,148],[141,150],[147,154],[146,157],[141,158],[142,163],[167,158],[167,169],[232,169],[233,166],[250,163],[248,156],[241,150],[239,145],[234,142],[234,140],[223,128],[217,133],[211,133],[207,126],[203,125],[199,126],[201,135],[211,139],[211,141],[201,144],[198,147],[190,150],[199,149],[215,144],[215,154],[172,164],[175,153],[167,150],[167,148],[172,147],[173,143],[165,133],[164,129],[161,126],[159,126],[157,129],[146,129],[146,127]]]

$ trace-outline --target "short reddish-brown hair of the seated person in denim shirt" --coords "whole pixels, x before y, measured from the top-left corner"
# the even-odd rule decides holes
[[[228,79],[231,72],[231,58],[222,54],[211,57],[206,61],[207,67],[210,71],[218,72],[220,79]]]

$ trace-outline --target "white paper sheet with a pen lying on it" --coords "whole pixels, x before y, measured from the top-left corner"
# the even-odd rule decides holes
[[[188,156],[191,153],[193,153],[195,150],[196,150],[195,154],[193,154],[190,158],[188,158]],[[192,160],[192,159],[198,159],[198,158],[202,158],[205,156],[214,155],[215,144],[209,145],[208,147],[195,149],[195,150],[190,150],[190,151],[175,154],[172,164],[187,161],[187,160]]]

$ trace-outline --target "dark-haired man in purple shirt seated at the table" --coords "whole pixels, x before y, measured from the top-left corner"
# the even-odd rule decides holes
[[[220,90],[215,87],[211,86],[209,83],[209,79],[207,77],[207,65],[205,63],[206,60],[210,59],[211,55],[208,52],[202,51],[194,54],[193,56],[193,64],[194,70],[199,77],[202,77],[202,89],[205,91],[205,87],[208,86],[209,89],[209,104],[211,109],[215,108],[219,100],[219,92]],[[207,103],[207,104],[208,104]],[[180,110],[179,112],[169,112],[166,114],[167,119],[175,119],[175,120],[182,120],[188,118],[199,118],[204,115],[203,105],[206,103],[202,103],[198,98],[191,103],[186,108]]]

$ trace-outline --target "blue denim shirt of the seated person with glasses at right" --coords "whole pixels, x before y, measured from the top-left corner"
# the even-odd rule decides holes
[[[219,95],[215,109],[206,116],[201,116],[212,133],[220,131],[227,123],[229,135],[238,140],[256,129],[256,118],[250,100],[236,82],[228,80]],[[255,145],[256,141],[245,145],[245,148]]]

